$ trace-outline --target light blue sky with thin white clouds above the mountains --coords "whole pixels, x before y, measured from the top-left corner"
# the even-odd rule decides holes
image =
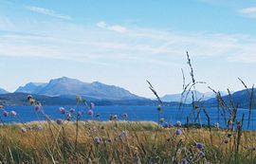
[[[0,0],[0,87],[69,77],[152,98],[256,82],[256,0]]]

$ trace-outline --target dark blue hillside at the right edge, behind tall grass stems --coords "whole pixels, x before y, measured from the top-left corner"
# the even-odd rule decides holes
[[[239,108],[248,108],[250,104],[251,91],[252,89],[244,89],[232,93],[231,100],[233,101],[234,105],[236,106],[236,104],[238,104]],[[225,101],[227,105],[230,105],[229,95],[222,96],[222,99]],[[207,106],[217,106],[218,100],[216,98],[212,98],[210,100],[205,100],[203,104]],[[252,108],[256,108],[256,89],[253,89]]]

